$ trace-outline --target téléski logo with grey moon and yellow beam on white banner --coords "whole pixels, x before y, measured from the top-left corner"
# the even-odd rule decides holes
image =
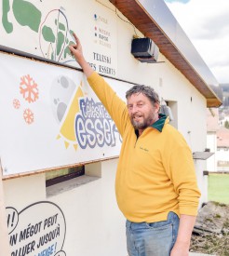
[[[120,140],[111,116],[100,101],[84,93],[82,82],[76,87],[69,77],[60,76],[53,81],[50,95],[53,115],[60,124],[57,139],[64,141],[66,149],[70,144],[75,151],[78,146],[114,147],[116,140]]]

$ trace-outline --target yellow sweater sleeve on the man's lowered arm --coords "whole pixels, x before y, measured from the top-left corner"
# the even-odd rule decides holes
[[[176,137],[170,152],[167,173],[178,195],[180,214],[196,216],[200,191],[192,152],[182,135]]]

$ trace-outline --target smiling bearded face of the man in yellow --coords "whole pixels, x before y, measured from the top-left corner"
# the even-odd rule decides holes
[[[158,119],[159,104],[152,102],[142,93],[135,93],[128,97],[128,115],[135,129],[141,132],[152,126]]]

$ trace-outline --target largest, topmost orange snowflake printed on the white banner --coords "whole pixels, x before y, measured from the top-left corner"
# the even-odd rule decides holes
[[[20,77],[20,93],[25,101],[28,101],[29,103],[38,99],[39,90],[30,74]]]

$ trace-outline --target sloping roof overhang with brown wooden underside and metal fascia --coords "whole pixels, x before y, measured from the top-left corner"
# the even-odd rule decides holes
[[[219,83],[162,0],[109,0],[206,98],[207,107],[222,104],[213,88]]]

